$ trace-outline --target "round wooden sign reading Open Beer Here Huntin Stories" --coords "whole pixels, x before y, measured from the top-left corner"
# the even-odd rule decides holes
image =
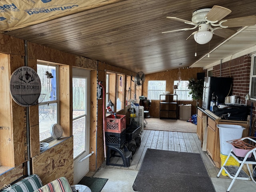
[[[12,99],[20,106],[38,104],[41,93],[41,81],[37,72],[28,66],[17,68],[10,79]]]

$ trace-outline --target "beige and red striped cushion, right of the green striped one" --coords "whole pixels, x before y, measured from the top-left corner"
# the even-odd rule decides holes
[[[65,177],[58,178],[35,192],[72,192],[72,189]]]

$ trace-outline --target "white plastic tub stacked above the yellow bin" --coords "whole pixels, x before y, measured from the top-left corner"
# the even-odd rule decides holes
[[[228,155],[232,149],[232,144],[227,141],[240,139],[244,131],[244,127],[240,125],[218,124],[220,132],[220,152]]]

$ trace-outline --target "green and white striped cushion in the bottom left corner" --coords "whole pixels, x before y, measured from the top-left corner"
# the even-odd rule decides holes
[[[38,175],[33,174],[19,182],[16,182],[12,187],[3,190],[2,192],[32,192],[42,187],[42,181]]]

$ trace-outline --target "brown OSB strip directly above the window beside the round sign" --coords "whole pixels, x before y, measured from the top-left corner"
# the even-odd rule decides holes
[[[28,58],[49,61],[59,64],[73,66],[76,63],[76,56],[58,50],[28,42]]]

